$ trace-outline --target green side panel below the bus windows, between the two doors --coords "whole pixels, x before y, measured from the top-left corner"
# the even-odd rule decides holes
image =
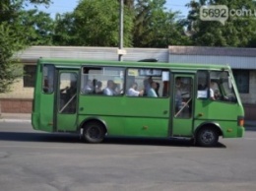
[[[96,116],[105,122],[107,135],[123,128],[127,136],[168,136],[169,97],[80,96],[79,101],[80,123],[83,116]]]

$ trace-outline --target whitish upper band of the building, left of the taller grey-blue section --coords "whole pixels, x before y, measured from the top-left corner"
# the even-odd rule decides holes
[[[138,61],[146,58],[157,58],[168,62],[167,48],[124,48],[124,61]],[[43,58],[71,58],[87,60],[118,60],[115,47],[82,47],[82,46],[32,46],[17,55],[22,60]]]

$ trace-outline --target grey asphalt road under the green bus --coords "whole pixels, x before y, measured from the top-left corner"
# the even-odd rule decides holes
[[[255,191],[256,131],[220,139],[217,148],[187,141],[107,139],[0,123],[0,190]]]

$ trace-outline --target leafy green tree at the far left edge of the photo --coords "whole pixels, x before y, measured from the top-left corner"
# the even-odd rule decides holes
[[[28,26],[21,22],[26,3],[49,5],[50,0],[1,0],[0,2],[0,93],[9,91],[10,85],[20,76],[16,70],[15,53],[28,44]]]

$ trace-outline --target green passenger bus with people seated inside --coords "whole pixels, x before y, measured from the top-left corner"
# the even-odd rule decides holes
[[[229,66],[46,59],[37,61],[32,127],[106,136],[184,138],[213,147],[244,134]]]

